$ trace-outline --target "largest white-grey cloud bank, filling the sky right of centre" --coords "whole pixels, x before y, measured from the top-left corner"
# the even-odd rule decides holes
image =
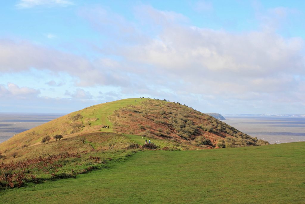
[[[285,9],[272,12],[279,18],[286,15]],[[88,13],[88,20],[103,22],[96,13]],[[150,6],[137,8],[136,18],[146,23],[143,28],[156,29],[148,34],[141,29],[142,24],[134,24],[134,33],[130,34],[141,36],[138,41],[125,45],[126,38],[119,32],[114,41],[109,41],[107,54],[124,59],[117,69],[137,79],[122,87],[122,93],[165,95],[155,90],[168,90],[167,94],[181,91],[181,98],[199,94],[215,100],[252,100],[253,104],[276,103],[279,98],[300,100],[291,92],[300,87],[293,76],[304,76],[302,38],[284,38],[272,29],[232,33],[198,28],[187,24],[181,14]],[[112,22],[117,31],[120,22]],[[98,26],[103,25],[95,24],[95,29],[107,35]]]

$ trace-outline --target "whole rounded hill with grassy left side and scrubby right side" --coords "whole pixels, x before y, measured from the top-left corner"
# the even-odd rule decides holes
[[[164,150],[268,144],[180,103],[123,99],[67,114],[1,143],[0,187],[102,169],[135,153],[145,139]]]

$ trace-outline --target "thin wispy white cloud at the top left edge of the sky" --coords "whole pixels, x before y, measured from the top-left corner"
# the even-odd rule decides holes
[[[68,0],[19,0],[16,4],[17,8],[32,8],[35,6],[69,6],[74,5],[72,1]]]

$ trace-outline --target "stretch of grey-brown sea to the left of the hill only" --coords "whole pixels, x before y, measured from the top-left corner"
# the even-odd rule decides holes
[[[0,113],[0,143],[13,135],[44,124],[64,114]]]

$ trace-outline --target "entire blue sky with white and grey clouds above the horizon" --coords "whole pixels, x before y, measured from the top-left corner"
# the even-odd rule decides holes
[[[305,114],[305,1],[12,0],[0,19],[0,112]]]

